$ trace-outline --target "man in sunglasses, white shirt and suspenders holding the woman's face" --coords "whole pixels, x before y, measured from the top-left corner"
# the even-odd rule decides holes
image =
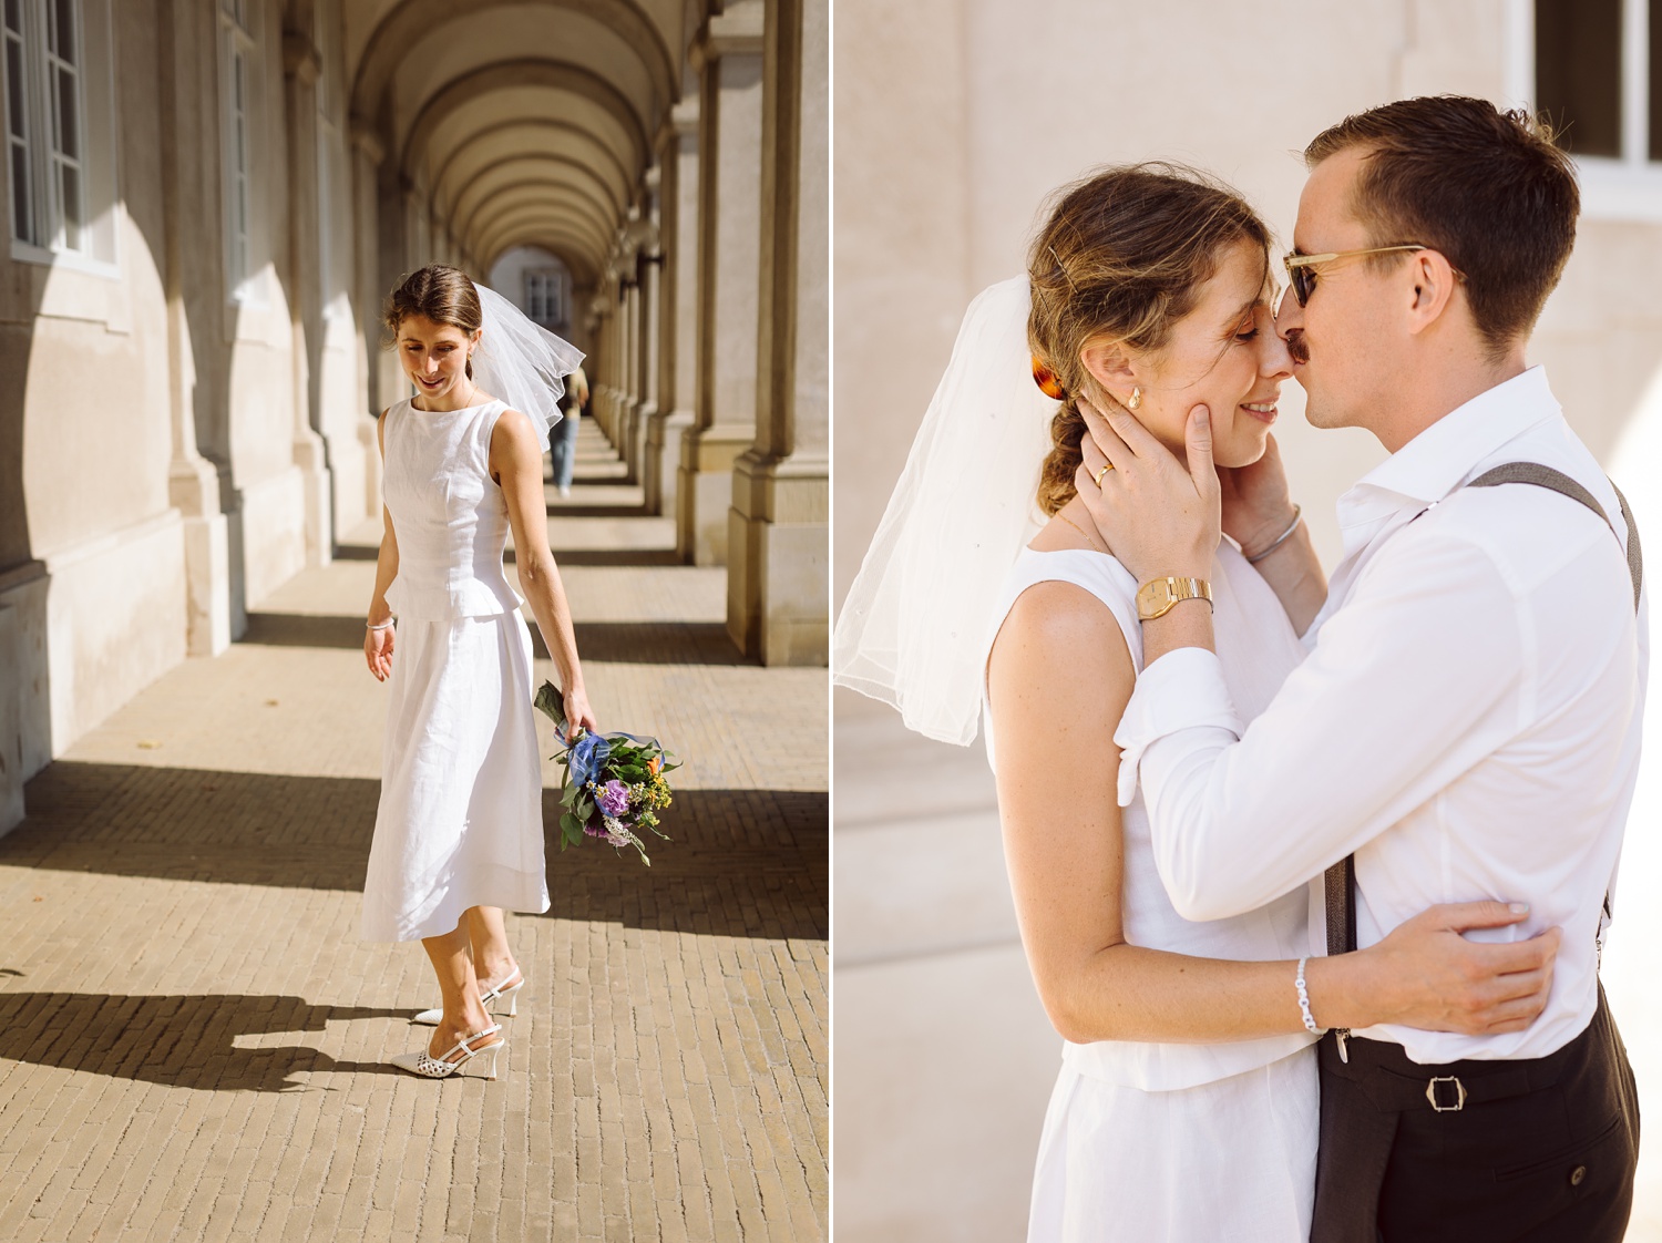
[[[1639,768],[1647,608],[1625,505],[1526,362],[1574,244],[1574,174],[1529,120],[1466,98],[1351,116],[1305,160],[1276,331],[1310,422],[1365,427],[1391,457],[1340,500],[1345,557],[1308,656],[1243,730],[1210,605],[1168,603],[1217,555],[1208,415],[1185,469],[1124,410],[1087,414],[1080,492],[1155,583],[1115,741],[1192,919],[1326,872],[1330,952],[1433,902],[1526,901],[1529,932],[1562,927],[1524,1030],[1323,1037],[1313,1243],[1615,1243],[1639,1107],[1597,939]],[[1308,537],[1275,545],[1266,577],[1288,573],[1275,557],[1313,558]]]

